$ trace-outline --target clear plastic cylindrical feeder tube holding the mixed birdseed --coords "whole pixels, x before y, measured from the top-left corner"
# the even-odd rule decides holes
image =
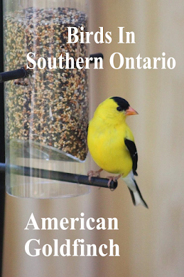
[[[86,44],[67,44],[67,26],[87,30],[86,0],[4,1],[5,70],[39,57],[87,57]],[[64,60],[65,62],[65,60]],[[86,69],[31,70],[5,84],[6,164],[86,174],[89,114]],[[6,172],[6,188],[17,197],[71,197],[89,186]]]

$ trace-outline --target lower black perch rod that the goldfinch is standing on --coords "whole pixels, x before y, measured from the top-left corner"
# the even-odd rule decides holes
[[[5,163],[0,163],[0,172],[4,172],[6,169]],[[100,178],[100,177],[92,177],[91,181],[89,181],[89,177],[86,175],[77,175],[66,172],[52,171],[52,170],[44,170],[39,168],[28,168],[24,166],[8,166],[8,170],[15,175],[24,175],[31,176],[43,179],[52,179],[56,181],[66,181],[68,183],[76,183],[88,186],[99,186],[102,188],[109,188],[108,181],[109,179]],[[115,190],[118,186],[117,181],[111,181],[110,189]]]

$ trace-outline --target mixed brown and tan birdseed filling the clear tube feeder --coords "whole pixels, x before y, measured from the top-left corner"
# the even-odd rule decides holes
[[[86,30],[86,20],[86,14],[75,8],[7,13],[6,71],[25,66],[29,52],[35,52],[36,60],[62,53],[74,59],[87,57],[86,44],[66,44],[66,27]],[[24,157],[84,161],[89,114],[86,69],[34,69],[27,84],[5,84],[7,139],[12,149]]]

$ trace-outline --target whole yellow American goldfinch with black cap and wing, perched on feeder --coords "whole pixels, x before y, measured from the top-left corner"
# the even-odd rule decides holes
[[[98,106],[89,122],[87,141],[89,152],[100,170],[91,170],[88,175],[90,180],[92,176],[100,176],[102,170],[118,174],[116,177],[109,176],[108,184],[122,177],[134,205],[141,204],[148,208],[134,179],[134,175],[137,176],[138,153],[134,136],[125,122],[127,116],[136,114],[129,103],[120,97],[107,98]]]

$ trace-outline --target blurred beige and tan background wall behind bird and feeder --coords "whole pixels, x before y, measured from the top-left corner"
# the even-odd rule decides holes
[[[149,210],[134,207],[123,181],[112,193],[92,188],[89,195],[71,199],[34,200],[6,196],[3,277],[126,276],[183,277],[184,272],[184,3],[182,0],[93,0],[91,30],[99,26],[113,34],[111,44],[91,44],[91,53],[104,54],[104,69],[91,70],[91,117],[109,96],[126,98],[139,115],[128,118],[138,148],[138,185]],[[117,44],[118,26],[133,30],[136,44]],[[176,69],[114,70],[109,57],[166,57]],[[95,164],[91,161],[91,168]],[[102,176],[105,176],[102,175]],[[41,217],[117,217],[119,231],[24,231],[30,213]],[[30,238],[42,243],[84,238],[100,245],[110,238],[120,257],[31,258],[24,245]]]

